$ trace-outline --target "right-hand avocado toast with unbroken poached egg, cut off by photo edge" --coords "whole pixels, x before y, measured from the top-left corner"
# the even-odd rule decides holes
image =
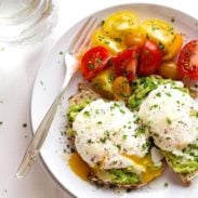
[[[198,173],[198,105],[188,90],[181,82],[159,84],[142,102],[138,116],[169,167],[189,184]]]

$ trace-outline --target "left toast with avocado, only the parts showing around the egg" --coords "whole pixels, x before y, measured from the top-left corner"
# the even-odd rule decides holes
[[[69,110],[67,114],[67,117],[68,117],[68,130],[67,131],[72,131],[72,121],[75,119],[75,116],[80,110],[82,110],[85,107],[85,105],[88,105],[89,103],[91,103],[97,98],[102,98],[101,95],[98,95],[91,88],[89,88],[82,83],[78,84],[78,91],[79,92],[77,94],[72,95],[68,101]],[[75,108],[75,107],[77,107],[77,108]],[[71,138],[70,138],[71,144],[74,145],[74,148],[75,148],[75,133],[70,133],[70,136],[71,136]],[[92,183],[94,183],[98,186],[136,189],[136,188],[141,188],[141,187],[145,186],[154,179],[160,176],[164,170],[164,167],[166,167],[166,164],[163,162],[160,168],[154,168],[154,169],[157,169],[159,174],[155,175],[150,180],[144,181],[144,182],[143,182],[143,180],[137,179],[137,175],[128,169],[101,170],[101,169],[91,169],[90,168],[90,173],[88,175],[88,179]]]

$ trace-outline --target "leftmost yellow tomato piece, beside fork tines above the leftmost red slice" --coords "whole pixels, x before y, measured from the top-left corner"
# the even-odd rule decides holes
[[[92,36],[92,45],[105,47],[110,51],[113,55],[123,51],[127,48],[124,42],[122,41],[122,38],[113,39],[110,37],[107,37],[102,29],[97,29],[94,31]]]

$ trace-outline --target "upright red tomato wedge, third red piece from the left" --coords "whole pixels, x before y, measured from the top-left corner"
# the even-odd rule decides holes
[[[162,51],[155,42],[146,40],[141,52],[140,76],[155,74],[161,64],[162,55]]]

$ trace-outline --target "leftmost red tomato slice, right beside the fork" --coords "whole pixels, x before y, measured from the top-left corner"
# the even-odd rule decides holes
[[[81,60],[81,71],[85,80],[91,80],[101,72],[109,58],[109,52],[103,47],[89,50]]]

